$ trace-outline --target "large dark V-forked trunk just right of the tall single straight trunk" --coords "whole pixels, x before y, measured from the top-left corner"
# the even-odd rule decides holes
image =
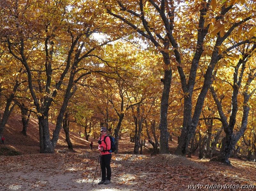
[[[223,44],[224,40],[228,37],[225,36],[225,38],[221,38],[218,34],[217,38],[215,39],[215,45],[212,48],[212,54],[211,54],[211,61],[207,67],[207,70],[204,75],[204,82],[202,85],[201,92],[199,93],[199,96],[196,101],[196,105],[194,107],[194,114],[192,117],[192,95],[194,92],[194,84],[196,79],[196,70],[198,68],[198,63],[201,59],[202,53],[203,53],[203,43],[204,38],[208,33],[207,28],[204,27],[205,25],[205,15],[207,14],[207,11],[209,10],[209,5],[206,4],[201,10],[200,10],[200,17],[199,17],[199,24],[198,28],[201,29],[201,31],[198,31],[197,34],[197,50],[195,51],[195,55],[193,57],[192,63],[191,63],[191,70],[189,73],[189,79],[186,81],[185,75],[183,73],[183,70],[180,71],[180,79],[182,84],[183,92],[186,93],[186,96],[184,98],[184,113],[183,113],[183,125],[182,125],[182,131],[180,136],[180,142],[178,144],[178,148],[176,150],[176,154],[178,155],[186,155],[187,147],[190,142],[190,139],[194,135],[195,129],[197,127],[200,114],[202,112],[202,107],[204,103],[205,96],[207,95],[207,92],[212,84],[212,74],[213,70],[215,68],[216,63],[222,58],[221,55],[219,55],[219,46]],[[229,11],[232,9],[232,6],[227,7],[225,11]],[[225,13],[227,13],[225,12]],[[224,14],[225,15],[225,14]],[[222,15],[221,17],[224,17]],[[220,53],[222,54],[222,53]],[[181,70],[178,68],[178,70]]]

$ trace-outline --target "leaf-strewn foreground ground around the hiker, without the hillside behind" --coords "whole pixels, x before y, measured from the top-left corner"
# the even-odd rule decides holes
[[[255,165],[227,167],[175,155],[113,154],[111,184],[98,185],[96,152],[1,156],[1,190],[188,190],[188,185],[255,184]],[[241,163],[244,165],[241,166]],[[249,165],[249,169],[248,169]],[[246,172],[249,170],[250,172]],[[245,173],[243,173],[245,172]],[[253,173],[253,178],[250,173]],[[247,174],[247,175],[246,175]],[[202,189],[201,189],[202,190]],[[222,189],[230,190],[230,189]],[[238,190],[238,189],[237,189]]]

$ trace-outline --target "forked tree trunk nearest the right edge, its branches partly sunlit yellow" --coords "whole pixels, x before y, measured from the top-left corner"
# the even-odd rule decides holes
[[[223,162],[226,165],[231,165],[228,158],[232,150],[234,149],[237,141],[241,138],[241,136],[244,135],[244,132],[247,127],[248,114],[250,110],[248,102],[252,93],[255,92],[255,89],[252,92],[249,92],[249,86],[252,80],[256,77],[256,72],[254,72],[253,74],[252,71],[248,73],[248,78],[246,81],[246,85],[244,87],[245,90],[243,90],[244,101],[243,101],[243,117],[241,121],[241,127],[236,134],[233,133],[233,130],[236,124],[236,115],[238,111],[237,96],[239,94],[239,88],[241,87],[244,70],[246,68],[246,62],[248,61],[248,58],[251,56],[251,54],[249,53],[254,51],[255,48],[256,48],[256,44],[253,44],[252,48],[249,51],[247,51],[246,53],[243,53],[243,58],[239,59],[239,61],[237,62],[234,68],[233,85],[232,85],[233,93],[231,97],[232,110],[229,116],[229,122],[227,122],[227,118],[222,110],[222,106],[221,106],[221,103],[219,102],[216,92],[212,87],[210,88],[213,99],[218,107],[218,112],[224,127],[224,131],[226,133],[226,136],[224,137],[222,142],[222,147],[220,150],[220,155],[218,156],[218,160],[220,162]]]

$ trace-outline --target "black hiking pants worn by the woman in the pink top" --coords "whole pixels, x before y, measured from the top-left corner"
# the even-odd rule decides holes
[[[112,154],[101,155],[100,157],[100,164],[101,164],[101,180],[110,180],[111,179],[111,161]],[[107,177],[106,177],[106,170],[107,170]]]

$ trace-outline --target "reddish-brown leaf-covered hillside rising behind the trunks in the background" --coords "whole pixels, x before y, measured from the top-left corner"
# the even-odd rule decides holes
[[[38,130],[38,122],[37,119],[30,117],[29,125],[27,128],[27,136],[24,136],[22,131],[22,121],[21,115],[12,114],[5,126],[3,136],[5,137],[5,144],[0,144],[1,147],[6,147],[13,149],[14,151],[19,152],[20,154],[37,154],[39,153],[39,130]],[[49,123],[49,129],[52,133],[55,129],[55,125],[53,123]],[[94,142],[93,151],[97,148],[97,139],[93,139],[90,137],[89,140],[85,140],[84,137],[81,137],[78,133],[74,133],[70,131],[70,140],[73,145],[73,149],[78,152],[87,152],[90,151],[89,144],[91,141]],[[174,142],[173,142],[174,143]],[[176,146],[176,145],[175,145]],[[125,133],[123,138],[119,140],[119,153],[133,153],[134,143],[129,142],[129,136]],[[55,151],[58,150],[66,150],[68,145],[65,141],[65,132],[61,129],[59,134],[59,139],[57,145],[55,147]],[[152,145],[146,143],[146,147],[143,148],[144,154],[148,154],[151,151],[150,148],[153,148]],[[14,153],[15,154],[15,153]],[[1,155],[1,152],[0,152]]]

